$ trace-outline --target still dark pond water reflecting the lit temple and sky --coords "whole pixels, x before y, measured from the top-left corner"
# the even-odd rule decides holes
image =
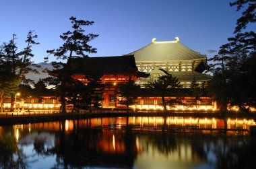
[[[255,125],[250,119],[191,117],[165,122],[199,129]],[[162,117],[117,117],[0,127],[0,168],[255,168],[256,138],[247,131],[122,129],[163,123]]]

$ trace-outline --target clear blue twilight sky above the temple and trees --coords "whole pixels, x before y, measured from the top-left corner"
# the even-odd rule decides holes
[[[100,36],[90,42],[98,53],[116,56],[131,53],[156,41],[174,40],[212,57],[214,50],[233,36],[240,13],[234,0],[8,0],[0,5],[0,44],[17,34],[20,49],[29,30],[38,35],[32,59],[43,61],[46,50],[63,44],[59,35],[71,30],[69,18],[94,21],[86,33]],[[53,57],[50,57],[52,60]]]

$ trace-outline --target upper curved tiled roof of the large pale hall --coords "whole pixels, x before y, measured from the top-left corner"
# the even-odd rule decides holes
[[[134,55],[136,62],[206,59],[205,55],[201,55],[176,41],[152,42],[127,55]]]

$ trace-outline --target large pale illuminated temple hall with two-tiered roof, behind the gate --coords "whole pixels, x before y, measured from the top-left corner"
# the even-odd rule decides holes
[[[141,72],[150,73],[150,77],[139,81],[140,84],[158,79],[159,75],[170,73],[181,82],[183,88],[190,88],[195,80],[204,87],[211,80],[210,75],[202,72],[207,69],[207,57],[197,53],[179,41],[156,41],[127,55],[134,55],[137,68]]]

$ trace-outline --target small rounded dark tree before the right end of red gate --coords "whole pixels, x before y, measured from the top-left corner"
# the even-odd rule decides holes
[[[136,103],[136,99],[139,97],[139,89],[140,86],[131,77],[125,83],[117,86],[115,95],[120,97],[117,102],[124,104],[127,107],[127,112],[129,111],[129,106]]]

